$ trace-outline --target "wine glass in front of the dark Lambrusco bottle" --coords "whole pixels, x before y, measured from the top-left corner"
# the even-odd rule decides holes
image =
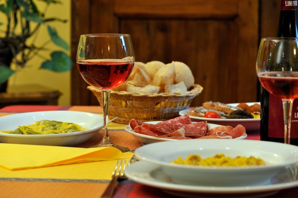
[[[262,86],[283,102],[284,143],[290,144],[293,101],[298,98],[298,38],[262,38],[256,70]]]

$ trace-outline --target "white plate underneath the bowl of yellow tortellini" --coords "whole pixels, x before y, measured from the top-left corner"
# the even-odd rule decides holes
[[[298,186],[297,165],[291,166],[292,171],[281,168],[270,182],[257,186],[216,187],[216,186],[191,186],[173,183],[170,176],[166,175],[160,166],[145,161],[131,164],[125,169],[125,175],[136,183],[146,186],[161,188],[166,193],[180,197],[265,197],[286,188]]]

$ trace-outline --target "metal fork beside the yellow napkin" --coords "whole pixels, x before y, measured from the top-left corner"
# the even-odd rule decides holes
[[[127,179],[127,177],[124,175],[124,170],[127,166],[129,166],[129,164],[129,162],[128,164],[126,164],[126,160],[117,160],[115,169],[112,173],[112,180],[103,193],[102,198],[111,198],[114,194],[114,190],[117,186],[118,180]]]

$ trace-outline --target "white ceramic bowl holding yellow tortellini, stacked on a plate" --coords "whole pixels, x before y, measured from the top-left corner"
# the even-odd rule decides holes
[[[195,166],[170,163],[179,156],[215,154],[260,157],[260,166]],[[229,139],[193,139],[147,144],[135,151],[137,158],[157,164],[174,183],[200,186],[254,186],[270,182],[284,166],[298,162],[298,147],[289,144]]]

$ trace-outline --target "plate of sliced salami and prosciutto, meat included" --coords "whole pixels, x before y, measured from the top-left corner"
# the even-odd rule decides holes
[[[181,139],[246,139],[246,129],[209,124],[207,121],[192,122],[189,115],[165,121],[141,122],[131,119],[125,131],[142,144]]]

